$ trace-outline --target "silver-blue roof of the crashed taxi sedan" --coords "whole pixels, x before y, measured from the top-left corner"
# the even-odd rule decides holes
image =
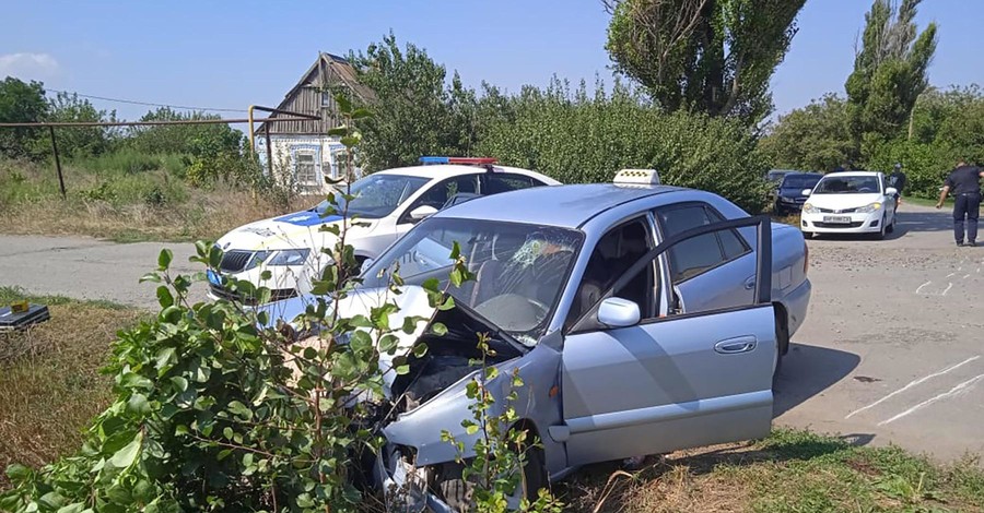
[[[576,228],[597,214],[643,198],[673,191],[669,186],[584,183],[534,187],[477,198],[434,214],[434,217],[537,223]]]

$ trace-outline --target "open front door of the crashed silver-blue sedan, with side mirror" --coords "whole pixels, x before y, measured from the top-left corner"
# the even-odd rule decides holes
[[[637,323],[637,312],[624,314],[632,305],[618,291],[644,279],[641,271],[654,259],[693,237],[747,226],[758,227],[750,305]],[[564,423],[550,428],[553,440],[566,443],[570,465],[769,433],[776,356],[771,244],[768,217],[683,231],[631,265],[581,317],[563,347]],[[653,285],[661,290],[661,283]]]

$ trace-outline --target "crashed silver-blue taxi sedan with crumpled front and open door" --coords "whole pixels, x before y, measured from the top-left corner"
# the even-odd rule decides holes
[[[680,204],[708,205],[718,218],[668,229],[661,208]],[[462,420],[472,416],[466,386],[479,370],[478,333],[491,337],[490,365],[500,369],[488,384],[493,409],[504,407],[518,372],[525,385],[513,428],[540,442],[527,453],[517,504],[582,465],[766,436],[783,338],[803,322],[810,293],[801,236],[787,237],[711,193],[623,184],[504,193],[422,220],[366,266],[362,288],[339,305],[347,314],[370,308],[398,269],[406,283],[395,298],[399,315],[430,317],[420,285],[446,283],[455,242],[476,276],[449,288],[456,308],[434,314],[446,334],[421,327],[401,341],[429,350],[410,357],[409,373],[385,377],[397,413],[383,430],[378,485],[403,490],[403,502],[421,509],[466,505],[457,449],[442,432],[470,456],[480,434]],[[741,251],[728,260],[722,249],[722,262],[691,266],[680,279],[688,261],[678,250],[701,240],[724,248],[725,239]],[[774,255],[773,240],[794,249]],[[789,276],[782,285],[773,262],[783,266],[777,276]],[[688,295],[688,281],[715,275],[737,286]]]

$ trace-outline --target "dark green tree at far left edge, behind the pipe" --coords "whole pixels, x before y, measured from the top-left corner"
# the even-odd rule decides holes
[[[8,76],[0,82],[0,121],[36,123],[48,114],[45,87],[40,82],[25,83]],[[0,128],[0,155],[10,158],[36,158],[34,142],[42,134],[36,128]]]

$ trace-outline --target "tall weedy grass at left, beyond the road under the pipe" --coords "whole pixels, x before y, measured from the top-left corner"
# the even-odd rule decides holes
[[[65,200],[51,165],[0,160],[0,231],[119,242],[214,240],[311,202],[273,202],[229,184],[195,188],[180,177],[177,158],[124,152],[66,164]]]

